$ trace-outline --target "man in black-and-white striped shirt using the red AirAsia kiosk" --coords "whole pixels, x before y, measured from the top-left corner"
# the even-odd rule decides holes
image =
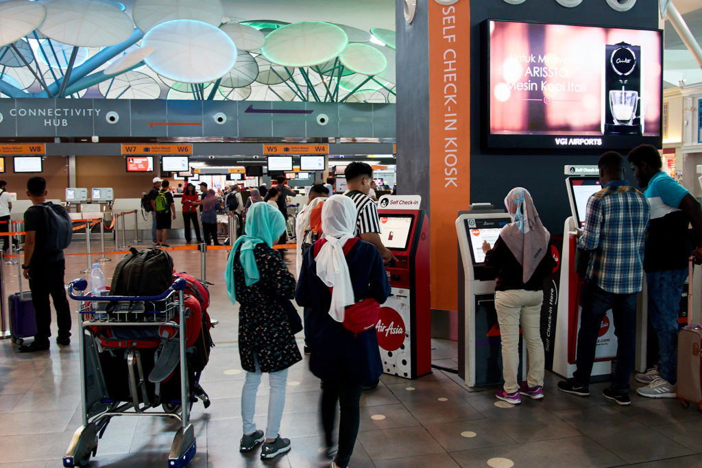
[[[380,252],[383,257],[383,262],[389,263],[391,260],[397,260],[392,252],[383,246],[383,241],[380,240],[380,219],[378,218],[378,207],[376,202],[368,196],[373,182],[373,168],[366,163],[352,162],[344,171],[346,176],[346,186],[348,191],[345,193],[356,204],[358,217],[356,218],[356,235],[361,240],[370,242]]]

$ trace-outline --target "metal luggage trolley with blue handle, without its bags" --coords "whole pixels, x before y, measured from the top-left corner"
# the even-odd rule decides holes
[[[73,438],[63,457],[64,467],[84,467],[91,455],[98,450],[98,439],[107,429],[112,417],[136,415],[173,417],[182,426],[176,432],[168,455],[168,467],[185,467],[194,457],[197,446],[194,429],[190,424],[190,407],[196,401],[188,389],[187,359],[185,355],[185,306],[184,295],[187,284],[177,279],[161,295],[152,297],[101,296],[98,301],[91,295],[81,295],[88,286],[85,279],[76,279],[69,285],[69,296],[79,301],[81,332],[79,334],[81,369],[81,408],[83,425]],[[95,304],[93,305],[93,302]],[[114,309],[107,314],[108,305]],[[111,307],[110,307],[111,308]],[[150,399],[139,349],[126,346],[129,399],[110,397],[105,383],[105,373],[98,351],[100,342],[93,330],[100,327],[154,327],[166,326],[178,330],[180,341],[180,401],[163,403],[163,411],[147,411],[157,406],[158,399]],[[128,340],[126,340],[128,341]],[[198,387],[197,380],[194,384]],[[204,392],[203,392],[204,393]],[[208,406],[206,394],[197,395]],[[131,399],[131,401],[130,401]]]

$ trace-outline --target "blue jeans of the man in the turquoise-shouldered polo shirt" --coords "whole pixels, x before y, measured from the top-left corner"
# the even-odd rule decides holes
[[[649,317],[658,335],[658,371],[672,384],[677,380],[677,318],[685,279],[687,268],[646,274]]]

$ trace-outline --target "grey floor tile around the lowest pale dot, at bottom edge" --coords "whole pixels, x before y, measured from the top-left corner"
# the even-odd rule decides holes
[[[507,458],[519,467],[579,468],[612,467],[623,464],[609,450],[585,436],[521,443],[514,446],[477,448],[452,452],[451,456],[464,468],[484,468],[491,458]]]

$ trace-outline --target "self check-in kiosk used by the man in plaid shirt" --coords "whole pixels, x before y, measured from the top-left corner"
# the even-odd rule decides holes
[[[571,217],[563,227],[563,250],[561,253],[560,297],[556,321],[556,337],[552,370],[558,375],[572,377],[576,369],[576,349],[580,330],[581,291],[583,279],[575,271],[575,254],[578,244],[576,229],[585,227],[585,213],[590,195],[600,192],[600,179],[592,176],[566,179]],[[611,310],[602,319],[600,335],[595,348],[595,365],[592,376],[611,374],[611,359],[616,356],[617,339]]]

